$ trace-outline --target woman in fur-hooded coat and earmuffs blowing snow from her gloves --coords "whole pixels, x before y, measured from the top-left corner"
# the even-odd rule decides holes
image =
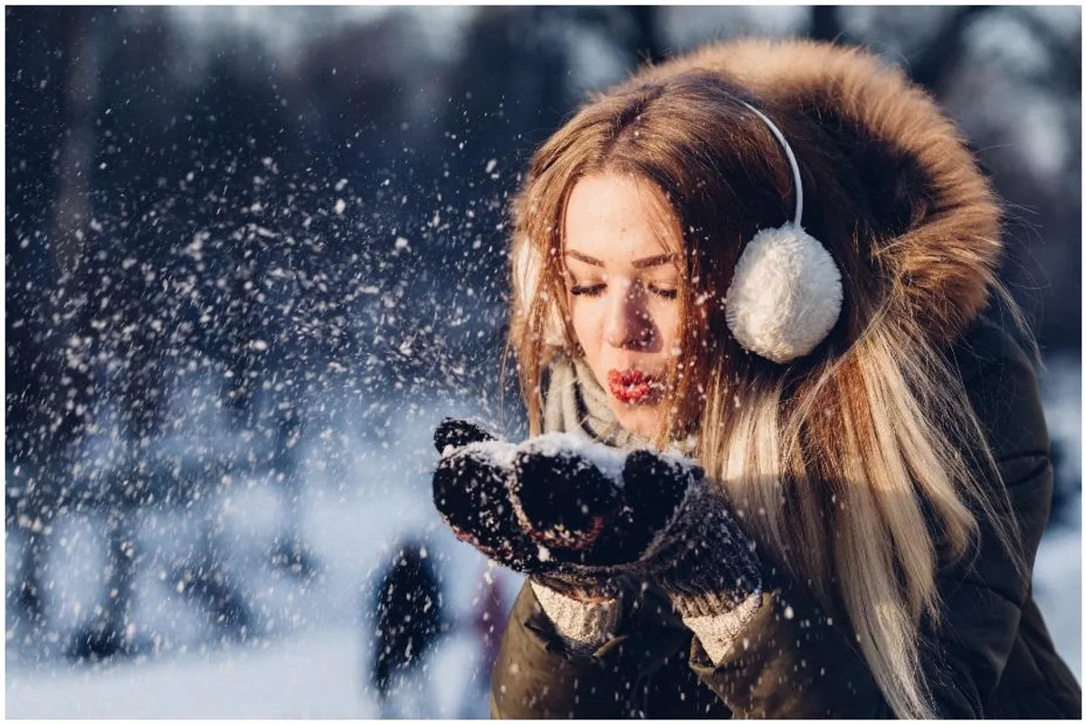
[[[528,576],[493,715],[1081,715],[999,208],[925,94],[711,47],[585,105],[515,211],[533,437],[435,434],[445,521]]]

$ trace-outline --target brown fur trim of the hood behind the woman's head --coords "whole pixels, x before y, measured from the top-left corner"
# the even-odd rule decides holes
[[[727,76],[779,113],[819,124],[859,173],[881,218],[860,239],[889,274],[897,314],[954,342],[984,309],[1002,251],[1001,214],[955,124],[899,69],[858,48],[809,40],[714,45],[639,73]],[[801,153],[797,151],[800,166]]]

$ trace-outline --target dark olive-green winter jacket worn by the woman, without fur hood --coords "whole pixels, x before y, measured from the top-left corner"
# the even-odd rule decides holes
[[[1001,329],[978,318],[954,348],[986,428],[1031,570],[1052,500],[1049,439],[1033,368]],[[1059,658],[1030,577],[981,521],[977,555],[938,579],[946,624],[927,632],[925,671],[940,716],[1082,716],[1082,690]],[[617,636],[565,652],[526,585],[492,678],[495,719],[893,717],[855,637],[805,586],[767,571],[763,605],[743,646],[714,665],[667,600],[631,590]]]

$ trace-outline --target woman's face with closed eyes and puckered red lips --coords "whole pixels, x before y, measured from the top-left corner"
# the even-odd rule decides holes
[[[629,174],[586,176],[566,206],[573,332],[619,423],[653,437],[679,355],[681,232],[662,192]]]

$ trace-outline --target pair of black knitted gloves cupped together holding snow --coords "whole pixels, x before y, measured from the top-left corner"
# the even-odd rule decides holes
[[[614,593],[617,579],[653,581],[683,617],[723,613],[761,590],[757,558],[723,499],[689,460],[626,454],[567,434],[519,446],[463,421],[434,435],[445,456],[434,500],[458,537],[573,597]],[[482,442],[487,439],[490,442]]]

